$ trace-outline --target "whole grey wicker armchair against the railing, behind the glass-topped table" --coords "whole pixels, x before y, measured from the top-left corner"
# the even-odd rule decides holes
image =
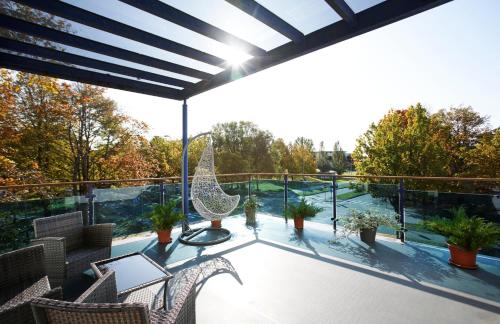
[[[84,226],[80,211],[38,218],[33,227],[32,244],[44,245],[47,274],[54,286],[79,276],[91,262],[111,256],[114,224]]]

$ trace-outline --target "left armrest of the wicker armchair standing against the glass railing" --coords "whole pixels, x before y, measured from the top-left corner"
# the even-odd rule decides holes
[[[66,239],[64,237],[44,237],[31,240],[31,245],[43,245],[45,271],[51,286],[63,285],[66,274]]]

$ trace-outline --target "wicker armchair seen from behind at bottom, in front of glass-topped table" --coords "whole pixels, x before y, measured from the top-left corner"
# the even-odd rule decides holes
[[[36,298],[31,307],[38,324],[93,323],[196,323],[196,280],[199,270],[191,271],[182,289],[174,296],[169,311],[149,310],[143,303],[116,303],[115,273],[110,271],[99,278],[74,302]],[[104,303],[106,301],[106,303]]]

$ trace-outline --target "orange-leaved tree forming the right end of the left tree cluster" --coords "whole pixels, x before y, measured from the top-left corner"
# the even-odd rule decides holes
[[[151,167],[139,154],[147,148],[143,137],[147,126],[119,113],[116,103],[104,96],[104,88],[75,84],[72,90],[71,117],[66,120],[72,180],[148,176]],[[110,170],[117,165],[119,171]]]

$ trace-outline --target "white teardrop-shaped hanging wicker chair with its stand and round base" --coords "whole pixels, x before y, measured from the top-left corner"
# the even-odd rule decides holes
[[[191,138],[188,141],[187,145],[184,147],[184,150],[182,152],[183,164],[189,143],[198,137],[210,134],[211,134],[210,132],[201,133]],[[231,203],[231,205],[227,208],[227,210],[224,210],[223,213],[216,213],[211,211],[210,208],[208,207],[210,206],[211,201],[206,200],[205,202],[208,205],[206,206],[204,202],[201,200],[201,198],[197,197],[197,195],[200,193],[200,191],[197,189],[198,183],[200,183],[200,187],[202,187],[201,190],[211,191],[210,192],[211,195],[209,195],[209,198],[207,199],[213,199],[213,197],[215,198],[219,197],[220,200],[225,200],[226,203]],[[208,187],[207,183],[210,184]],[[201,192],[203,193],[203,191]],[[240,199],[239,195],[238,196],[226,195],[220,188],[219,183],[217,182],[217,179],[215,177],[213,148],[211,142],[207,144],[207,147],[203,151],[203,154],[198,163],[198,167],[196,168],[196,172],[193,177],[193,182],[191,184],[191,199],[193,200],[193,206],[195,207],[196,211],[198,211],[198,213],[206,219],[213,219],[214,216],[216,216],[216,218],[222,219],[222,217],[229,215],[238,206],[238,202]],[[189,203],[189,201],[183,203]],[[205,232],[210,232],[212,234],[215,234],[214,236],[216,238],[211,240],[194,240],[198,235]],[[185,245],[209,246],[225,242],[230,238],[231,238],[231,232],[225,228],[214,228],[210,226],[210,227],[192,229],[190,228],[189,221],[186,217],[182,222],[182,233],[179,236],[179,242]]]

